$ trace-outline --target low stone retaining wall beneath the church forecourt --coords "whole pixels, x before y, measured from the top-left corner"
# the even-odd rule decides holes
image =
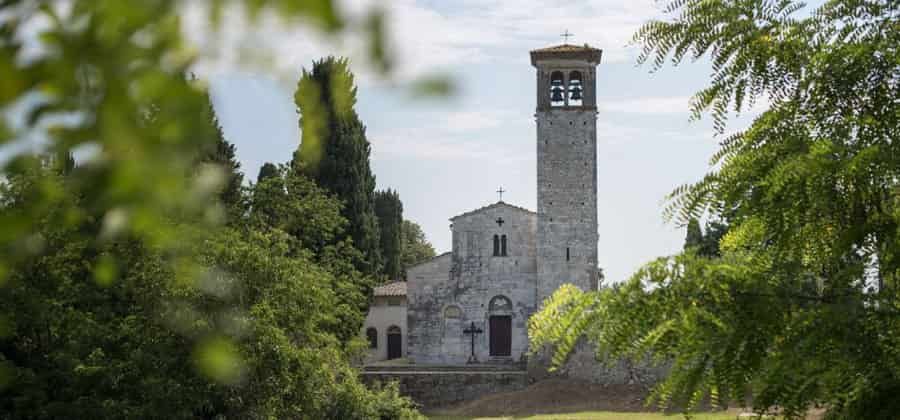
[[[400,394],[431,409],[528,386],[528,373],[513,366],[367,366],[363,382],[397,382]]]

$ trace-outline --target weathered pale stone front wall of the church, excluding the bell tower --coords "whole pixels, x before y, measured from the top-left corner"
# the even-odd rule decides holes
[[[471,338],[463,329],[474,322],[483,331],[475,339],[479,361],[518,361],[528,350],[527,322],[535,308],[535,214],[499,202],[452,220],[449,266],[442,260],[407,274],[410,359],[465,364]],[[494,235],[506,235],[506,256],[493,255]],[[490,302],[498,296],[509,299],[512,307],[492,311]],[[490,356],[492,315],[512,318],[511,356],[502,360]]]

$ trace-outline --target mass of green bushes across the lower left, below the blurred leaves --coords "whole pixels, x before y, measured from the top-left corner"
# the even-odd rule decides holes
[[[36,189],[76,187],[36,168],[0,188],[3,214]],[[17,314],[0,337],[14,378],[0,389],[0,417],[418,416],[396,390],[358,381],[341,337],[339,286],[353,283],[319,262],[330,259],[293,249],[291,235],[221,229],[192,244],[199,280],[185,283],[163,249],[134,238],[97,247],[79,238],[85,228],[43,223],[38,256],[0,289]]]

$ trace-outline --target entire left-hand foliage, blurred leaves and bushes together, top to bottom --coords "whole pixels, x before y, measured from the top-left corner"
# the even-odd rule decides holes
[[[377,12],[201,3],[371,32],[388,68]],[[2,163],[0,418],[418,417],[350,366],[368,286],[342,203],[284,170],[241,186],[180,4],[0,2],[0,146],[40,139]]]

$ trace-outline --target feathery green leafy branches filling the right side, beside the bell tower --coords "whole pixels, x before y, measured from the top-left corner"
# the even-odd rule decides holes
[[[708,55],[693,102],[728,136],[712,172],[671,196],[679,223],[727,220],[721,255],[655,261],[614,290],[560,290],[533,343],[562,363],[580,335],[598,354],[670,364],[654,397],[746,402],[789,418],[900,412],[900,3],[828,1],[808,17],[779,0],[678,0],[636,35],[655,67]]]

